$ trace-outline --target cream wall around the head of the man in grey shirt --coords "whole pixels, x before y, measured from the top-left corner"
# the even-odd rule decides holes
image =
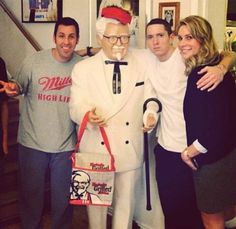
[[[21,22],[21,1],[3,1],[16,18]],[[81,36],[77,49],[89,45],[89,2],[94,0],[64,0],[63,16],[70,16],[80,25]],[[34,37],[43,49],[54,46],[53,29],[55,23],[22,23],[26,30]],[[17,72],[23,59],[35,52],[31,44],[21,34],[19,29],[10,20],[0,7],[0,56],[6,62],[11,75]]]

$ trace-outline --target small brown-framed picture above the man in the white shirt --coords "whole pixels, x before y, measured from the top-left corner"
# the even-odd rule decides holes
[[[170,23],[172,31],[176,31],[179,23],[180,2],[161,2],[159,3],[159,17]]]

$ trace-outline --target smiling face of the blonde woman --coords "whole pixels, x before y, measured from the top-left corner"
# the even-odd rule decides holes
[[[180,26],[178,30],[178,40],[180,54],[185,60],[199,53],[201,44],[192,36],[188,26]]]

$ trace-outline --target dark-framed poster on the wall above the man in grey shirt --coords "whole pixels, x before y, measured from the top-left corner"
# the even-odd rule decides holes
[[[62,0],[21,0],[23,23],[55,23],[62,18]]]

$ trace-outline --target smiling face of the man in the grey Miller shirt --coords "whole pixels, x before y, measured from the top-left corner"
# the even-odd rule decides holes
[[[55,59],[60,62],[69,61],[78,43],[75,26],[59,25],[54,42],[56,44],[56,49],[53,50]]]

